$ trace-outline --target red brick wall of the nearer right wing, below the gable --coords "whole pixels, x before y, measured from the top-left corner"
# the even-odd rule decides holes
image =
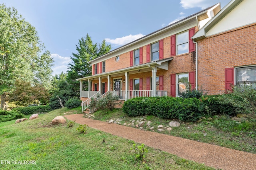
[[[256,23],[198,41],[198,86],[225,92],[225,68],[256,64]]]

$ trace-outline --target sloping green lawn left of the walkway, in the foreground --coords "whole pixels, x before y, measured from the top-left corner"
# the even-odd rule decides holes
[[[14,124],[0,123],[1,170],[213,170],[193,161],[149,148],[144,161],[134,160],[133,141],[89,128],[86,134],[79,126],[51,125],[57,115],[80,113],[78,109],[57,109],[40,114],[38,119]],[[117,116],[117,115],[115,115]],[[124,115],[122,115],[124,116]],[[106,119],[102,116],[102,119]],[[68,121],[68,120],[67,120]],[[68,121],[69,122],[69,121]],[[103,142],[104,141],[104,142]],[[139,145],[139,144],[138,144]],[[12,161],[34,161],[12,164]],[[18,162],[17,162],[18,163]]]

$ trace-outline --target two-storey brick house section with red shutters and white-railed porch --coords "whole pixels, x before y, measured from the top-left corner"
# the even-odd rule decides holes
[[[114,49],[89,63],[92,76],[80,81],[82,109],[96,94],[120,100],[136,96],[179,96],[188,83],[197,88],[197,48],[191,37],[219,11],[220,3]],[[82,89],[88,81],[89,91]]]

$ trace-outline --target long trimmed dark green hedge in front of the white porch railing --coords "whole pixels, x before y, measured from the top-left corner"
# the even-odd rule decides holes
[[[196,98],[133,98],[124,102],[123,111],[129,116],[154,115],[163,119],[196,121],[202,117],[204,105]]]

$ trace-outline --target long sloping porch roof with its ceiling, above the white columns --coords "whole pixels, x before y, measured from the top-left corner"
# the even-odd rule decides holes
[[[95,80],[96,78],[108,78],[108,75],[111,75],[111,77],[118,77],[118,76],[124,76],[125,72],[129,72],[129,74],[138,74],[141,72],[149,72],[152,70],[152,67],[156,66],[157,69],[164,69],[164,70],[168,70],[168,61],[171,61],[173,58],[168,58],[168,59],[163,59],[160,61],[153,61],[151,63],[145,63],[145,64],[140,64],[137,66],[132,66],[132,67],[128,67],[128,68],[123,68],[120,70],[115,70],[115,71],[110,71],[110,72],[104,72],[101,74],[95,74],[92,76],[87,76],[87,77],[83,77],[83,78],[78,78],[76,80],[78,81],[88,81],[89,79],[91,80]]]

